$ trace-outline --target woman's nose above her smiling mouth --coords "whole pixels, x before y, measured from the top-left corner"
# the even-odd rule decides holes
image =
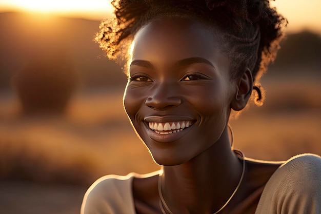
[[[174,86],[168,84],[159,84],[152,90],[152,94],[148,96],[145,104],[156,110],[166,110],[179,106],[182,103],[182,99],[177,95],[177,91]]]

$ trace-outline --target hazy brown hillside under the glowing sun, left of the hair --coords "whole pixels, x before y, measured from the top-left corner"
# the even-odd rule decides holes
[[[17,72],[51,49],[63,47],[83,89],[125,87],[121,66],[93,42],[99,21],[25,13],[0,13],[0,92],[10,91]]]

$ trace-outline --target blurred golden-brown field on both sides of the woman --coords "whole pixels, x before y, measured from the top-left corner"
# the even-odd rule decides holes
[[[320,155],[319,77],[277,80],[263,80],[263,107],[251,105],[231,121],[235,147],[263,160]],[[122,90],[78,92],[58,117],[23,117],[16,96],[1,94],[1,213],[78,213],[95,179],[159,168],[129,124]]]

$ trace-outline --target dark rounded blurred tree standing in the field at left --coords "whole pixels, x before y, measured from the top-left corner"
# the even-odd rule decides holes
[[[12,83],[24,114],[61,114],[75,90],[77,75],[68,57],[56,52],[28,64]]]

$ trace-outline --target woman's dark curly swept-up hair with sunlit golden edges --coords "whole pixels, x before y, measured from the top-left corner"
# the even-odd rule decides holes
[[[114,18],[102,21],[95,37],[109,59],[127,60],[135,33],[153,20],[193,17],[223,33],[221,51],[230,59],[231,78],[248,67],[256,82],[275,59],[287,25],[268,0],[113,0],[112,5]]]

